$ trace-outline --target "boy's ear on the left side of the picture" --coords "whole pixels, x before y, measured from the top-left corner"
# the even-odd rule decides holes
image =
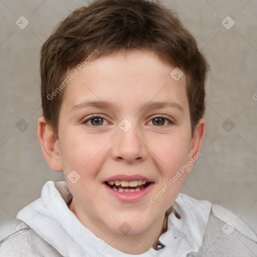
[[[54,136],[44,116],[41,116],[38,119],[37,136],[44,158],[50,169],[56,172],[63,171],[59,141]]]

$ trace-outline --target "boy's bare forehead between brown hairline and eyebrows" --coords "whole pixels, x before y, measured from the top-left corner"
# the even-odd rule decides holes
[[[118,51],[91,60],[81,71],[75,67],[78,74],[66,86],[63,102],[70,110],[86,100],[109,101],[116,109],[174,102],[187,110],[185,76],[174,80],[174,68],[152,51]]]

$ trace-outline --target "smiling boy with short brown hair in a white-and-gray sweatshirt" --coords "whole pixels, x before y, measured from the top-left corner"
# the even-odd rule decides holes
[[[41,51],[41,198],[1,229],[0,256],[256,256],[238,217],[180,194],[201,156],[208,65],[146,0],[74,11]]]

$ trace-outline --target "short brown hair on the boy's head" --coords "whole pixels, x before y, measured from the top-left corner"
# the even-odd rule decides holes
[[[191,132],[205,110],[208,64],[193,36],[174,11],[147,0],[98,0],[72,12],[41,50],[43,115],[58,138],[63,90],[56,92],[67,71],[99,50],[95,58],[121,49],[149,49],[185,73]],[[63,87],[59,87],[63,88]],[[56,92],[52,94],[53,92]],[[49,97],[54,95],[54,97]],[[50,99],[49,99],[50,98]]]

